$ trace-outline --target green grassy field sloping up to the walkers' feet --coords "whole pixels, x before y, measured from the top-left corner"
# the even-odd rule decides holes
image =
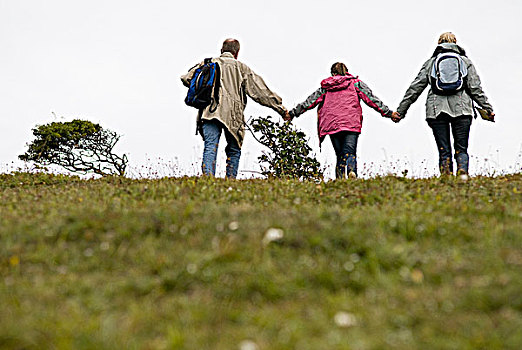
[[[521,193],[0,175],[0,349],[520,349]]]

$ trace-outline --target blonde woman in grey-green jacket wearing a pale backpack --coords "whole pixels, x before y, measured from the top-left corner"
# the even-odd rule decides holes
[[[444,92],[437,82],[442,72],[443,63],[441,58],[452,56],[456,58],[455,62],[462,61],[463,67],[456,70],[453,76],[456,80],[462,77],[462,87],[456,91]],[[459,58],[460,57],[460,58]],[[448,67],[451,67],[448,66]],[[440,69],[440,71],[437,71]],[[450,69],[450,68],[446,68]],[[451,76],[451,74],[448,74]],[[453,33],[443,33],[439,37],[438,46],[432,57],[428,59],[422,66],[419,74],[411,83],[406,91],[402,102],[397,108],[397,113],[401,118],[406,116],[408,108],[414,103],[420,94],[424,91],[428,84],[432,84],[432,88],[428,91],[428,100],[426,101],[426,121],[433,131],[437,149],[439,150],[439,168],[441,174],[453,174],[453,160],[451,158],[451,141],[450,129],[453,133],[453,143],[455,148],[455,160],[457,162],[457,174],[467,178],[469,168],[468,156],[468,139],[471,120],[473,114],[473,101],[485,110],[488,120],[494,121],[495,113],[493,107],[489,104],[482,87],[480,86],[480,78],[471,63],[466,57],[466,52],[457,45],[457,38]],[[451,85],[451,84],[449,84]]]

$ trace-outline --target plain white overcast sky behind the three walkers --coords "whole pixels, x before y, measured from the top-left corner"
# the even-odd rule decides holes
[[[160,175],[192,175],[199,171],[202,140],[194,135],[196,113],[183,102],[179,76],[218,55],[224,39],[241,42],[239,59],[287,108],[302,102],[331,64],[342,61],[396,109],[439,34],[452,31],[497,114],[495,124],[472,125],[470,170],[520,171],[521,13],[517,0],[0,0],[1,169],[17,162],[35,125],[79,117],[123,134],[117,150],[142,174],[145,166]],[[416,176],[434,173],[426,91],[400,124],[363,105],[361,171],[364,164],[385,171],[392,162]],[[247,118],[266,115],[275,112],[249,101]],[[334,151],[327,139],[319,152],[315,111],[295,123],[331,174]],[[221,172],[225,143],[223,137]],[[240,172],[259,169],[261,150],[247,135]]]

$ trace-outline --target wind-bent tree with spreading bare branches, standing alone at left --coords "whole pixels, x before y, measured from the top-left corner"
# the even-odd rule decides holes
[[[113,153],[120,135],[99,124],[75,119],[53,122],[33,129],[34,141],[18,156],[41,165],[59,165],[78,173],[102,176],[125,174],[127,156]]]

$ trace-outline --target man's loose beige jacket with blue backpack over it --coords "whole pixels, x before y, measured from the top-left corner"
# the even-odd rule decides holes
[[[218,119],[236,138],[239,146],[245,137],[245,117],[243,111],[249,96],[257,103],[272,108],[280,115],[286,110],[282,99],[266,86],[263,78],[254,73],[246,64],[239,62],[234,56],[225,52],[218,58],[213,58],[221,68],[221,88],[219,90],[219,105],[211,113],[209,107],[203,110],[201,118],[204,120]],[[185,86],[189,86],[194,72],[203,64],[200,63],[181,77]]]

